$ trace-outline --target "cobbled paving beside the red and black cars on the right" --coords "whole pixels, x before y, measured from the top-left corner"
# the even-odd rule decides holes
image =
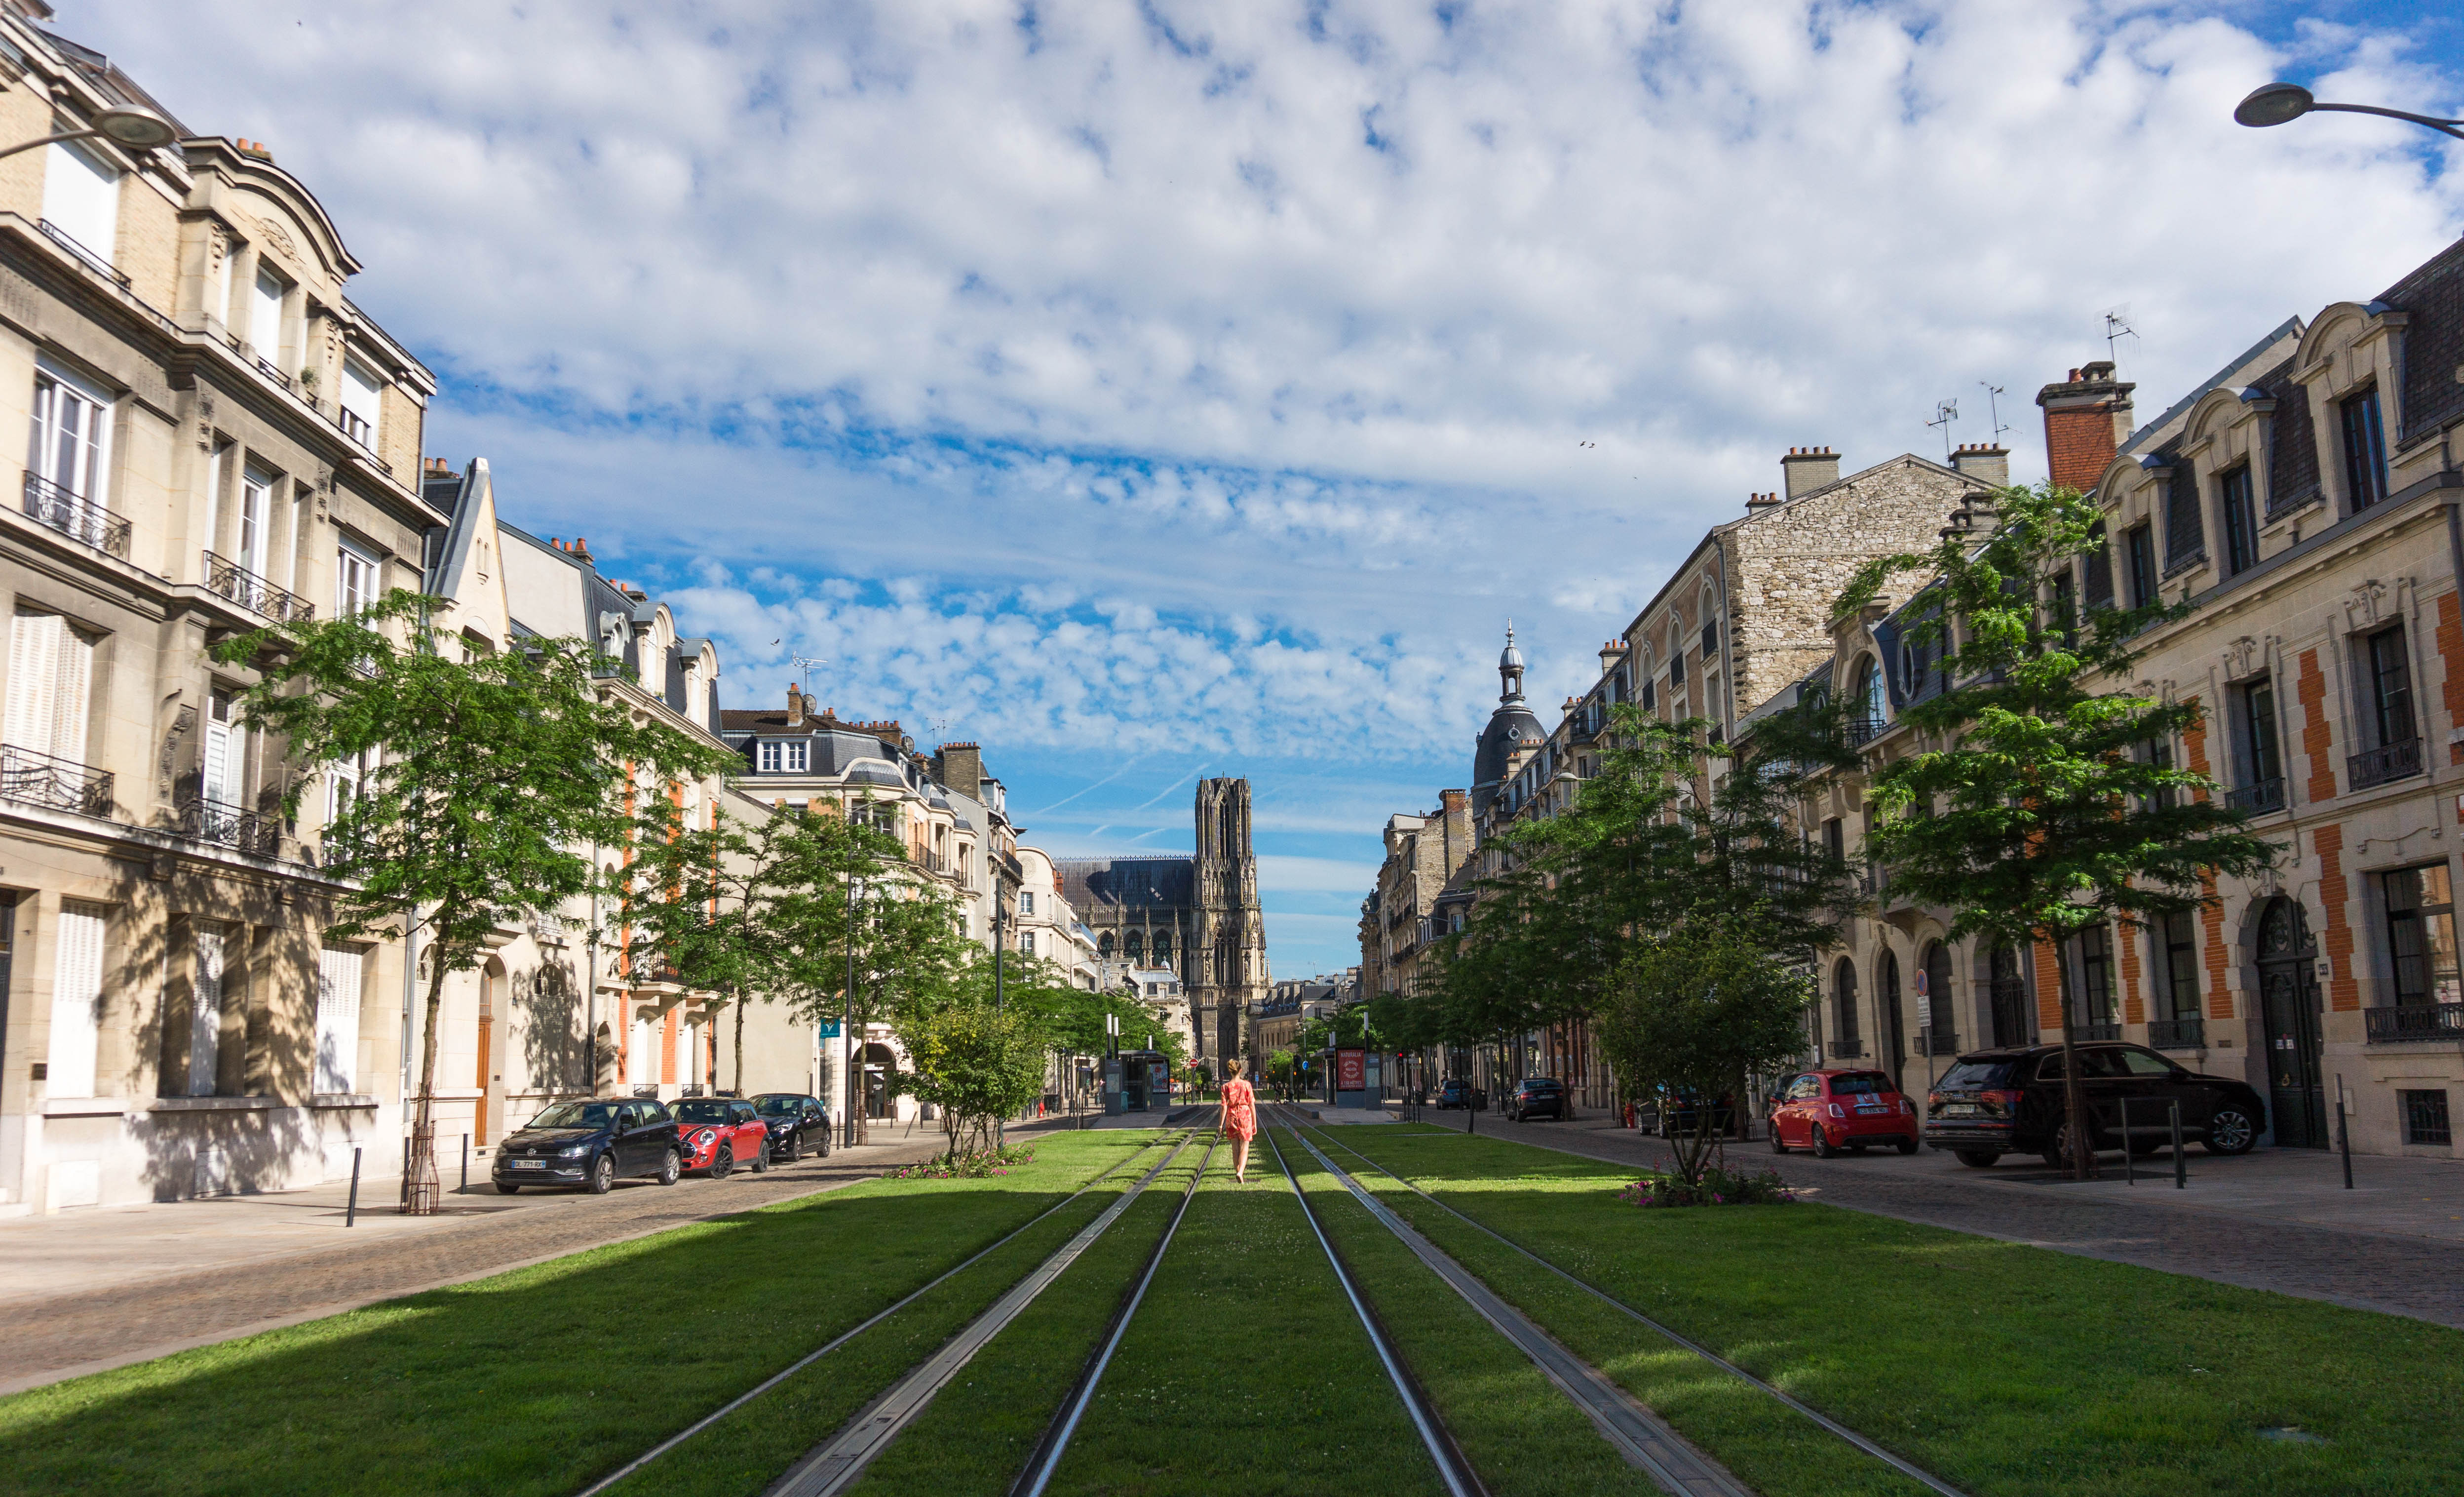
[[[1432,1107],[1424,1117],[1464,1127],[1456,1112]],[[1611,1164],[1668,1162],[1666,1144],[1607,1120],[1515,1125],[1486,1112],[1478,1132]],[[2119,1154],[2104,1159],[2109,1176],[2089,1184],[2011,1162],[1991,1174],[1971,1171],[1932,1149],[1912,1159],[1774,1159],[1757,1142],[1730,1144],[1730,1164],[1774,1164],[1816,1201],[1875,1216],[2464,1327],[2464,1241],[2452,1221],[2464,1216],[2459,1164],[2356,1159],[2356,1184],[2368,1181],[2370,1196],[2341,1196],[2351,1201],[2348,1223],[2328,1216],[2341,1191],[2336,1159],[2299,1149],[2264,1149],[2245,1159],[2193,1149],[2190,1191],[2173,1189],[2171,1162],[2161,1181],[2122,1184]],[[2141,1169],[2154,1169],[2154,1162]]]

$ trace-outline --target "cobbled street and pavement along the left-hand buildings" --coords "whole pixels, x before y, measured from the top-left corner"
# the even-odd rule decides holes
[[[7,1278],[10,1290],[0,1300],[0,1347],[7,1347],[0,1393],[830,1191],[894,1164],[929,1159],[939,1149],[941,1134],[919,1130],[904,1139],[838,1149],[828,1159],[781,1164],[769,1174],[737,1171],[722,1181],[683,1179],[675,1186],[618,1181],[606,1196],[498,1196],[493,1186],[473,1186],[466,1196],[446,1196],[446,1213],[429,1218],[392,1216],[397,1189],[384,1179],[360,1194],[360,1221],[384,1231],[342,1238],[342,1231],[301,1233],[296,1223],[283,1223],[281,1233],[234,1233],[244,1241],[222,1243],[222,1253],[207,1248],[205,1268],[168,1273],[160,1263],[148,1263],[118,1282],[86,1273],[62,1292],[27,1292],[27,1243],[59,1253],[64,1233],[74,1233],[89,1263],[111,1263],[116,1241],[175,1226],[180,1213],[288,1206],[291,1196],[308,1196],[298,1208],[320,1226],[340,1228],[342,1199],[325,1186],[291,1196],[182,1201],[7,1223],[0,1228],[0,1278]],[[370,1211],[370,1196],[382,1199],[382,1206]],[[269,1245],[269,1236],[278,1241]]]

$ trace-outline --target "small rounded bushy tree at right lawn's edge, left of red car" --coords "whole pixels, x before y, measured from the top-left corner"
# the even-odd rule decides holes
[[[1811,1006],[1814,984],[1772,957],[1762,932],[1693,920],[1619,962],[1594,1031],[1629,1088],[1693,1102],[1693,1130],[1671,1130],[1671,1144],[1678,1176],[1695,1186],[1720,1132],[1717,1097],[1791,1063]]]

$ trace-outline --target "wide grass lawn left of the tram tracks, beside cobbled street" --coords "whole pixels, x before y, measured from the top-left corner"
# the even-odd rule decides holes
[[[574,1492],[1148,1137],[1045,1137],[1003,1179],[865,1181],[32,1388],[0,1401],[0,1492]],[[939,1337],[902,1322],[991,1302],[1109,1199],[1089,1191],[1030,1233],[1040,1253],[1020,1241],[813,1371],[848,1359],[838,1376],[857,1376],[853,1354],[894,1361],[885,1347],[929,1337],[914,1361]],[[670,1462],[690,1470],[695,1453],[643,1475]],[[660,1490],[683,1485],[665,1475]]]

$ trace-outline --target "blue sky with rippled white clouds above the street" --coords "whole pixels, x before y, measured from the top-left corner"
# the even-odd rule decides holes
[[[976,740],[1057,856],[1247,774],[1276,977],[1358,962],[1508,619],[1555,723],[1789,446],[2033,478],[2048,380],[2156,414],[2464,232],[2464,143],[2230,121],[2464,113],[2439,5],[57,5],[732,705]]]

